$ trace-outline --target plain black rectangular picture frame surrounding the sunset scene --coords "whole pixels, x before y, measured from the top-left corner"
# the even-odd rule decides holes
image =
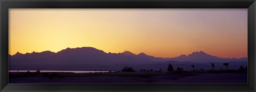
[[[255,0],[0,0],[2,91],[255,91]],[[8,84],[8,9],[11,8],[247,8],[248,84]]]

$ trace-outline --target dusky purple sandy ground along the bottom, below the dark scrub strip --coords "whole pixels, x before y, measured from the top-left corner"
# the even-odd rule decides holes
[[[26,77],[9,79],[9,83],[247,83],[247,73],[198,74],[196,76],[159,75],[148,78],[97,77]]]

